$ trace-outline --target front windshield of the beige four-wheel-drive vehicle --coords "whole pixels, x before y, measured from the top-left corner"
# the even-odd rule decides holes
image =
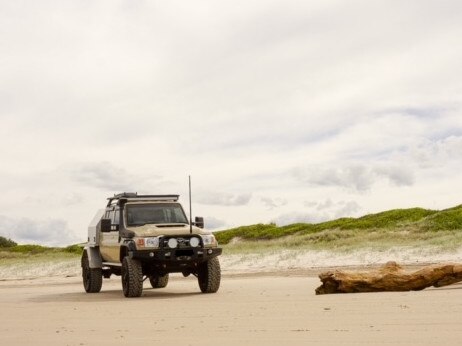
[[[148,223],[188,223],[183,208],[177,203],[127,205],[127,226]]]

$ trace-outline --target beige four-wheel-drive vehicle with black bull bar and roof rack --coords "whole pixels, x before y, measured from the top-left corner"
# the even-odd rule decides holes
[[[178,197],[125,192],[108,198],[88,227],[82,254],[86,292],[99,292],[103,277],[115,274],[126,297],[139,297],[144,280],[163,288],[169,273],[196,276],[203,293],[218,291],[222,250],[203,230],[203,218],[188,222]]]

